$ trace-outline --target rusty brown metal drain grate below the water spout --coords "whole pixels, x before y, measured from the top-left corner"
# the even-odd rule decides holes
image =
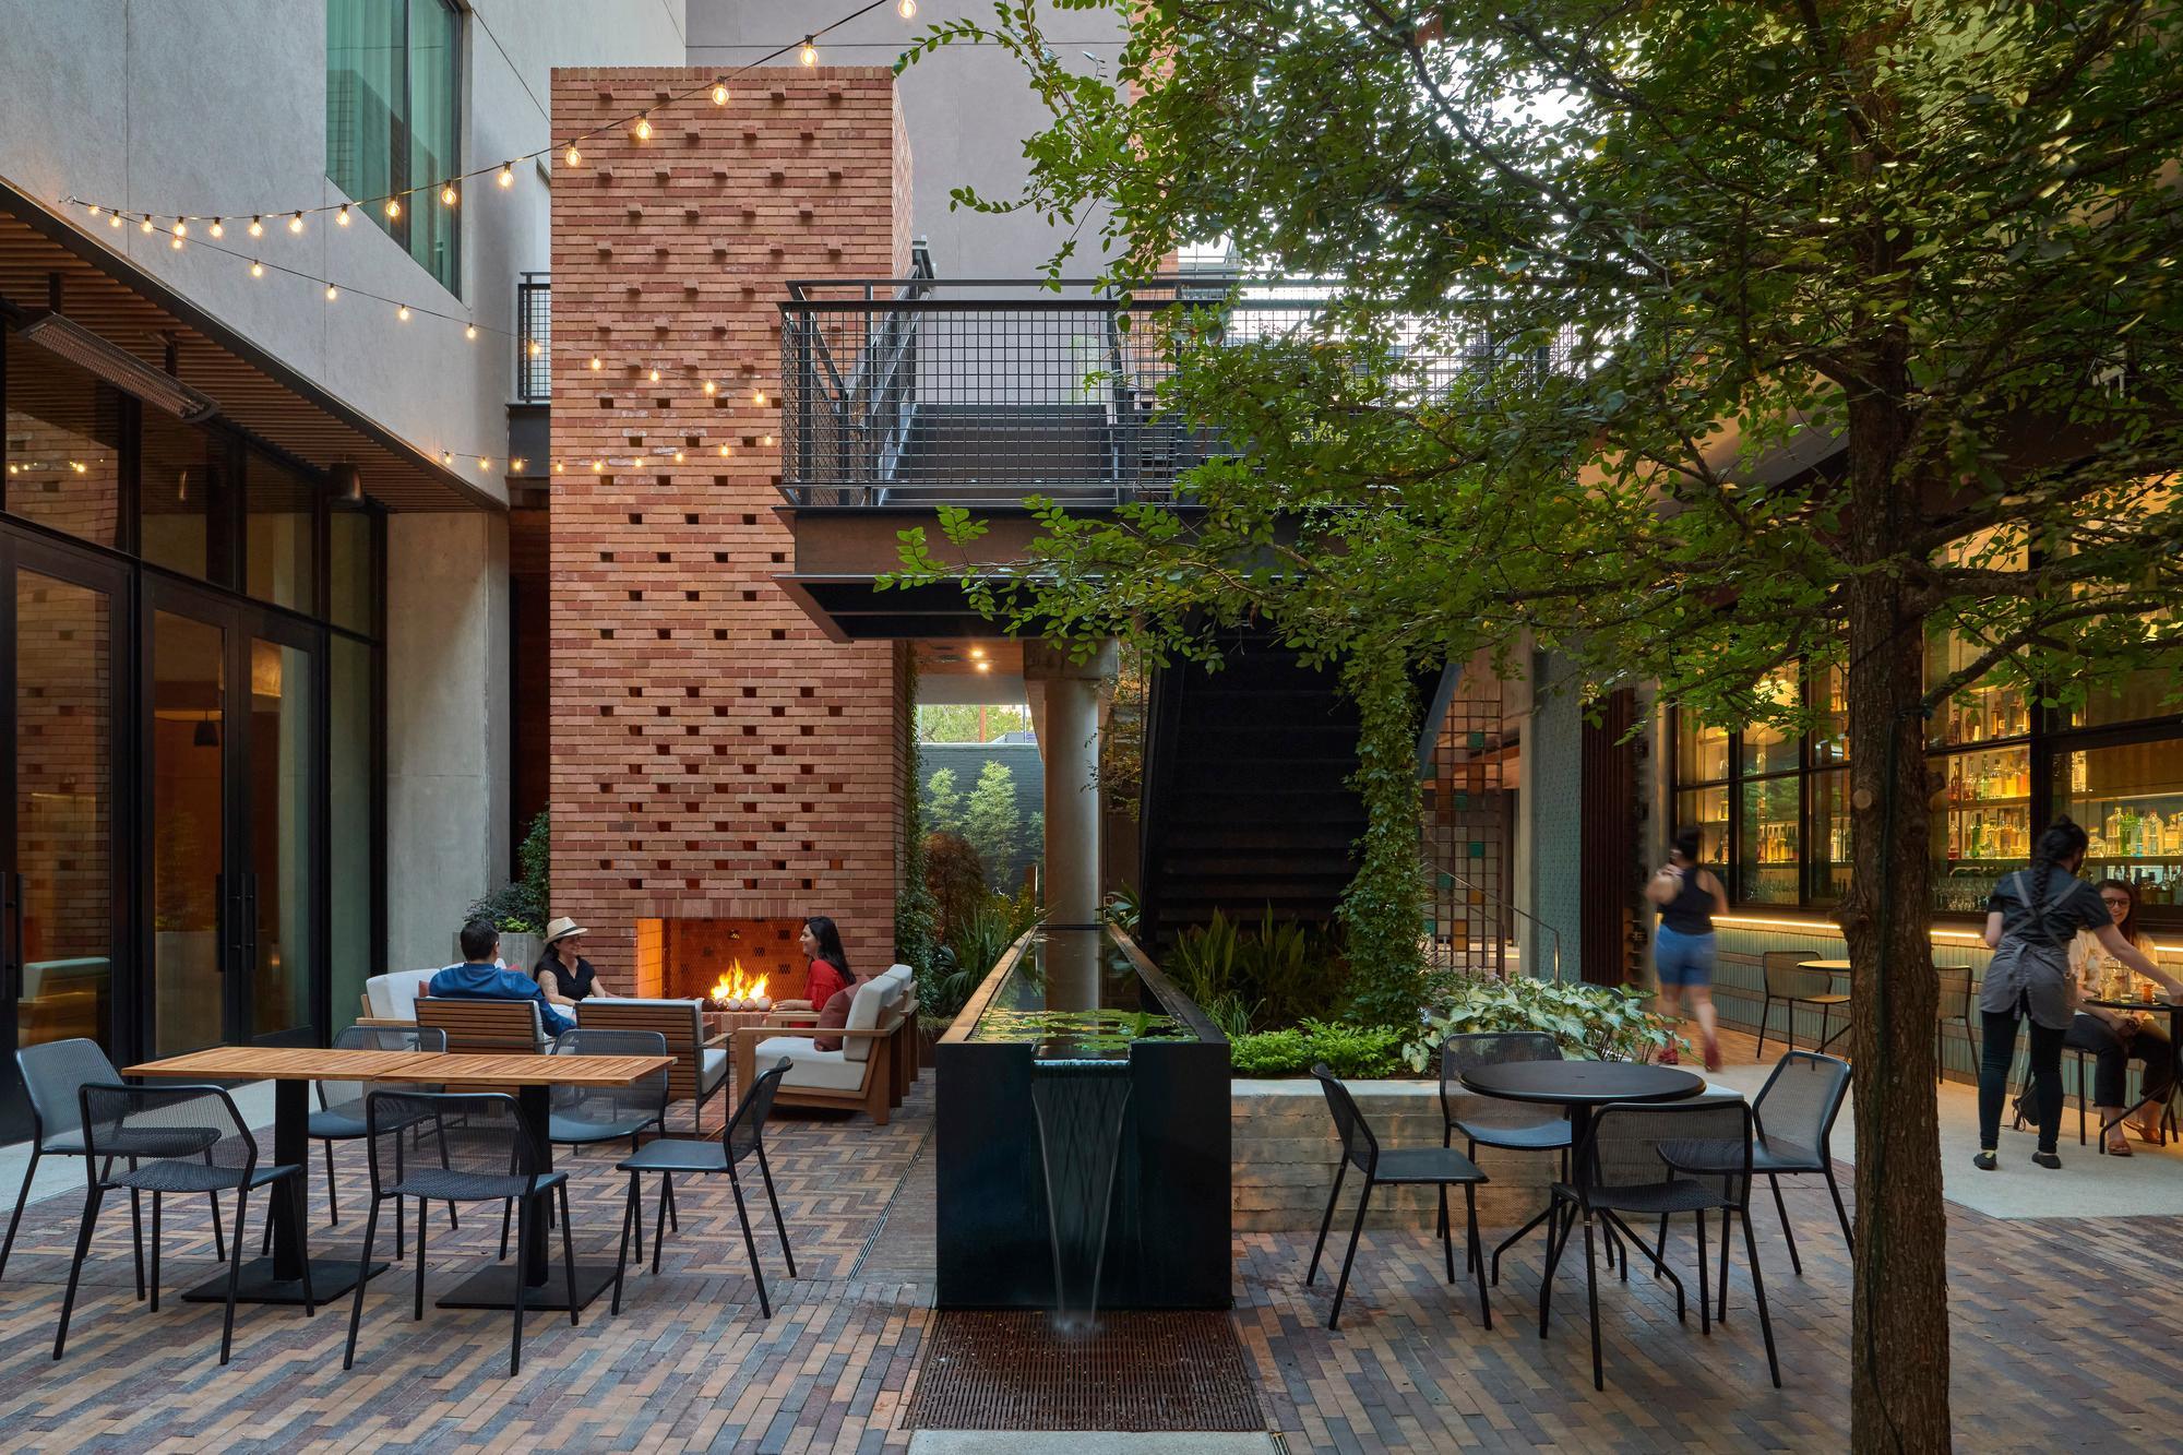
[[[1266,1429],[1225,1313],[1100,1313],[1085,1337],[1046,1313],[941,1313],[910,1429]]]

